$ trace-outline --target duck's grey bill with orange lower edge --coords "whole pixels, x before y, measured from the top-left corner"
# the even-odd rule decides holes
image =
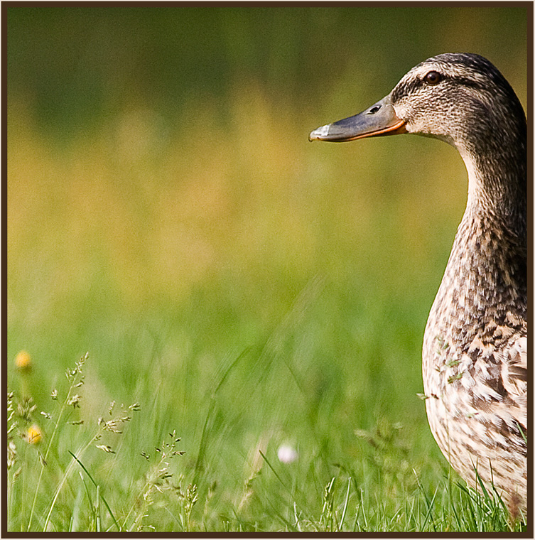
[[[405,121],[396,116],[396,111],[392,107],[388,95],[373,104],[372,107],[355,114],[354,117],[318,127],[312,131],[308,139],[310,141],[345,142],[364,139],[364,137],[400,133],[406,133]]]

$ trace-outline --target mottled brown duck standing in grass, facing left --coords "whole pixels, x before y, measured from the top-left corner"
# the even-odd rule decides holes
[[[423,335],[431,432],[468,485],[495,487],[509,516],[527,509],[526,116],[489,60],[445,53],[419,63],[355,116],[310,141],[418,134],[457,148],[468,197]]]

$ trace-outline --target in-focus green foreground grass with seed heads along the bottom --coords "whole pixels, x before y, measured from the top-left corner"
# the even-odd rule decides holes
[[[357,433],[367,442],[367,465],[330,463],[335,473],[325,485],[318,455],[305,463],[300,449],[297,460],[283,463],[267,443],[250,456],[249,477],[227,470],[238,485],[225,492],[229,479],[212,480],[215,471],[199,469],[200,457],[188,465],[176,431],[133,463],[120,439],[134,415],[143,415],[140,406],[112,402],[104,416],[82,421],[86,362],[87,355],[67,370],[68,388],[54,389],[51,412],[41,412],[48,436],[25,439],[30,426],[36,429],[36,406],[8,396],[9,531],[522,531],[520,524],[510,528],[503,502],[482,484],[475,491],[448,473],[431,490],[414,468],[391,469],[389,455],[401,465],[400,454],[409,452],[401,426],[386,421],[374,433]],[[76,450],[63,453],[64,444]]]

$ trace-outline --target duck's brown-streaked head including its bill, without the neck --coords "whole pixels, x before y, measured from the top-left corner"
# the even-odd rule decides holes
[[[505,139],[519,130],[525,141],[525,124],[522,105],[492,63],[480,55],[446,53],[416,65],[372,107],[315,129],[309,139],[420,134],[453,144],[465,157],[512,144]]]

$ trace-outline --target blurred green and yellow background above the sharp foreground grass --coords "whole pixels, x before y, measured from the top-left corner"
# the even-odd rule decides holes
[[[432,139],[308,133],[445,52],[525,107],[527,7],[3,9],[10,386],[28,350],[48,403],[89,351],[82,414],[139,401],[128,466],[176,428],[198,483],[284,441],[319,483],[336,460],[384,477],[354,433],[384,422],[393,471],[440,477],[415,394],[465,168]]]

